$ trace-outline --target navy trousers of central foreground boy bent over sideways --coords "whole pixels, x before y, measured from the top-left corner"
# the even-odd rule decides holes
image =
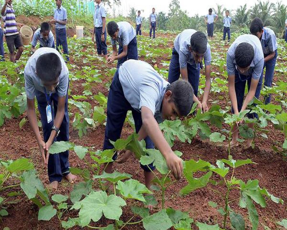
[[[109,140],[116,141],[121,137],[123,124],[127,116],[127,111],[129,110],[132,112],[133,120],[135,121],[135,131],[138,133],[142,126],[141,113],[133,109],[131,104],[129,104],[125,98],[121,82],[119,81],[119,69],[117,69],[108,93],[107,122],[103,147],[104,150],[114,148]],[[154,148],[154,143],[150,137],[146,137],[145,141],[147,149]],[[117,154],[115,154],[113,157],[113,160],[116,159]],[[155,169],[152,164],[150,164],[149,167],[152,170]],[[150,171],[146,165],[141,165],[141,168],[143,168],[145,171]]]

